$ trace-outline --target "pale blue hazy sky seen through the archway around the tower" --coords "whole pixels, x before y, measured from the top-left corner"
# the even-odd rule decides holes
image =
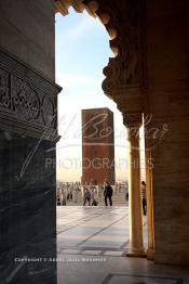
[[[113,56],[109,35],[97,18],[69,10],[56,14],[56,82],[58,95],[57,179],[81,179],[81,109],[109,107],[114,114],[116,179],[126,179],[126,139],[121,113],[103,90],[103,68]]]

